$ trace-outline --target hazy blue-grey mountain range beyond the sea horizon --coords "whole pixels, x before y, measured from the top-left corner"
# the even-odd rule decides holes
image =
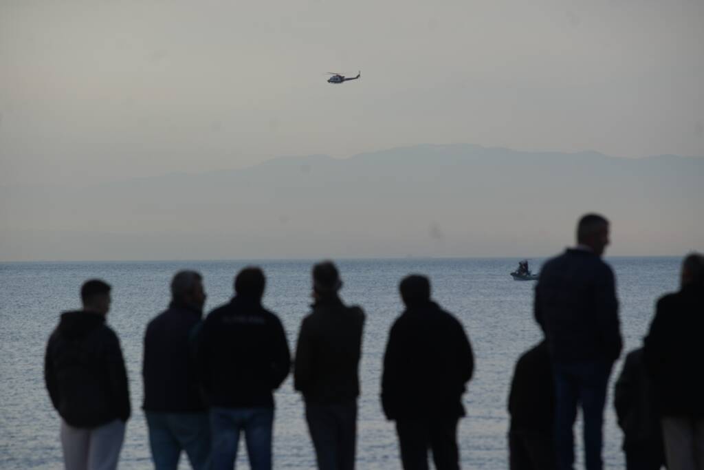
[[[0,187],[0,259],[543,256],[704,249],[704,158],[419,145],[83,187]]]

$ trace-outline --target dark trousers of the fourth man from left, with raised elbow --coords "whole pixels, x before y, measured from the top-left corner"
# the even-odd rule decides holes
[[[308,432],[320,470],[353,470],[357,445],[357,400],[306,402]]]

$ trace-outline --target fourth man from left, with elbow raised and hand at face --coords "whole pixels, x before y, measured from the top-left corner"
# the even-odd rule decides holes
[[[294,387],[306,400],[306,421],[320,470],[354,468],[359,359],[364,312],[338,296],[337,268],[313,266],[313,311],[298,334]]]

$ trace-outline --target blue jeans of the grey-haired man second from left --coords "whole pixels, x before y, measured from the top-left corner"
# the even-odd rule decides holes
[[[185,450],[194,470],[210,468],[208,414],[145,412],[156,470],[176,470]]]

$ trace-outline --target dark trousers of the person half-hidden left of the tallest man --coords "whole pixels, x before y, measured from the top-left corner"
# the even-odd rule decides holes
[[[552,435],[535,431],[508,433],[510,470],[555,470],[555,443]]]

